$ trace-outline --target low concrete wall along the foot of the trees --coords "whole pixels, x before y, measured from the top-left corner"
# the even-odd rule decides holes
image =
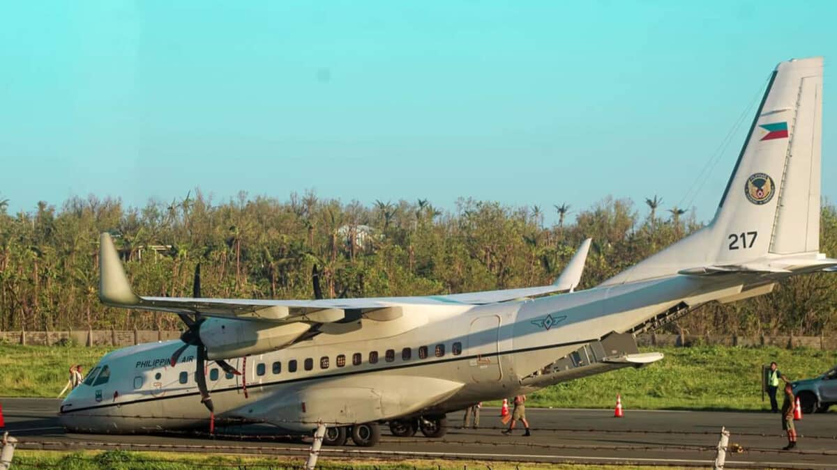
[[[16,345],[55,345],[70,340],[75,345],[130,346],[153,341],[177,340],[180,331],[155,330],[72,330],[72,331],[0,331],[0,342]],[[837,350],[837,336],[724,336],[724,335],[639,335],[640,346],[776,346]]]

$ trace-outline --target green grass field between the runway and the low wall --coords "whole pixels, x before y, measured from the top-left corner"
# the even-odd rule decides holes
[[[0,345],[0,394],[58,395],[69,365],[85,370],[112,348]],[[643,369],[624,369],[548,387],[529,396],[531,406],[614,406],[616,394],[633,409],[762,410],[762,364],[776,360],[791,379],[813,377],[837,364],[837,351],[694,346],[644,348],[665,359]]]

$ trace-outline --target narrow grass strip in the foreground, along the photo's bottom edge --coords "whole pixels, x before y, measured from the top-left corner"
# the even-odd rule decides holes
[[[443,460],[404,460],[387,462],[367,460],[356,463],[348,460],[321,458],[317,462],[318,468],[337,469],[350,468],[352,470],[437,470],[439,468],[490,468],[495,470],[545,470],[557,468],[559,470],[573,470],[589,468],[580,465],[555,464],[514,464],[503,462],[475,462],[475,461],[443,461]],[[305,457],[264,457],[251,455],[202,455],[197,453],[174,452],[126,452],[126,451],[23,451],[14,453],[14,468],[58,467],[67,470],[187,470],[192,468],[247,468],[248,470],[266,468],[300,468],[305,465]],[[655,468],[664,469],[674,467],[615,467],[595,466],[608,470]]]

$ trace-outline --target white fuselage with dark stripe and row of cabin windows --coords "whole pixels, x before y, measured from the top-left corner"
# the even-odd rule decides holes
[[[246,365],[244,358],[229,360],[244,376],[225,375],[210,361],[208,388],[220,420],[299,431],[318,421],[347,425],[453,411],[515,395],[522,378],[578,345],[629,330],[681,301],[696,305],[737,294],[742,284],[738,276],[722,283],[674,276],[501,304],[416,305],[394,321],[323,325],[321,335],[249,356]],[[341,331],[329,334],[330,328]],[[61,406],[64,425],[141,432],[205,423],[194,349],[173,367],[167,362],[179,345],[105,355],[100,367],[109,367],[108,381],[75,389]]]

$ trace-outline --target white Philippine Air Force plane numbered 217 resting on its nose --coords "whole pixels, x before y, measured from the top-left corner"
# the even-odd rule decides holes
[[[105,355],[61,420],[140,432],[206,426],[214,411],[371,446],[377,423],[436,437],[448,411],[659,360],[633,335],[837,266],[819,253],[822,79],[821,58],[778,64],[712,221],[593,289],[544,295],[573,291],[559,279],[392,299],[141,297],[103,234],[101,301],[178,314],[187,330]]]

